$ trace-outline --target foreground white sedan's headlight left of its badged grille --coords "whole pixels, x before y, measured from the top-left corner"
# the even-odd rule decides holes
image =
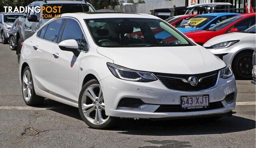
[[[107,63],[107,66],[111,73],[119,79],[136,82],[152,82],[157,80],[150,72],[136,71],[113,63]]]

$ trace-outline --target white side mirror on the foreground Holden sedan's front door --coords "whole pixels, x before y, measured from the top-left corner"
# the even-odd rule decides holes
[[[76,57],[78,57],[79,55],[79,51],[77,50],[78,49],[78,43],[76,42],[76,40],[74,39],[67,39],[67,40],[64,40],[64,41],[61,41],[59,43],[59,47],[61,50],[63,51],[70,51],[72,53],[74,53],[74,55]]]

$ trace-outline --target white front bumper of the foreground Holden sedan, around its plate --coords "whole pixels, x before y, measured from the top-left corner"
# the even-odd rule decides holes
[[[228,79],[218,79],[217,83],[218,84],[214,89],[184,92],[170,90],[159,80],[149,83],[140,83],[121,80],[112,75],[100,81],[102,92],[104,94],[106,115],[124,118],[172,118],[217,115],[234,110],[237,95],[234,75]],[[230,104],[226,103],[224,100],[226,95],[233,92],[234,102]],[[204,111],[155,112],[160,105],[180,105],[180,96],[186,95],[209,95],[210,103],[221,101],[223,107]],[[118,108],[118,103],[122,98],[141,99],[147,105],[141,109]]]

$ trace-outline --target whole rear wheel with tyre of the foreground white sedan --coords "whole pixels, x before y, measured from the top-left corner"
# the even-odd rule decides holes
[[[30,68],[27,66],[22,71],[22,97],[26,105],[39,106],[44,98],[36,95]]]

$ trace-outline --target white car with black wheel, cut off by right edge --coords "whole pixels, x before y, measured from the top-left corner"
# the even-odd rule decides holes
[[[203,46],[232,66],[239,79],[252,79],[252,53],[255,44],[255,25],[243,32],[216,36]]]

